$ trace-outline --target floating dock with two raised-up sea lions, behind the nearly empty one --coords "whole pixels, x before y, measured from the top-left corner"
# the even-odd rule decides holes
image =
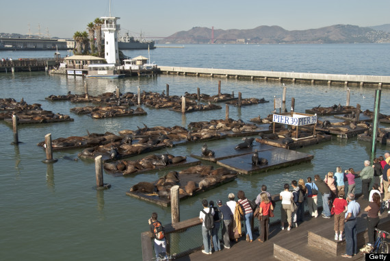
[[[191,154],[192,157],[197,158],[199,160],[207,160],[210,162],[217,162],[218,160],[224,160],[227,158],[234,158],[237,156],[243,156],[246,154],[250,154],[255,149],[259,151],[266,151],[269,149],[276,149],[276,147],[270,146],[270,145],[265,145],[265,144],[254,144],[253,147],[250,148],[244,148],[244,149],[234,149],[235,146],[229,146],[229,147],[222,147],[216,150],[213,150],[212,148],[211,151],[214,151],[214,157],[205,157],[201,153],[199,154]]]

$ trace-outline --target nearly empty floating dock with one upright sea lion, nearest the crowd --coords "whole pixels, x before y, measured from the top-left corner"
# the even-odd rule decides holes
[[[242,174],[253,174],[271,169],[280,169],[285,166],[292,166],[301,162],[308,162],[314,158],[313,155],[302,153],[298,151],[291,151],[289,149],[269,149],[259,152],[259,158],[268,160],[265,165],[252,165],[252,155],[246,154],[235,158],[228,158],[225,160],[218,160],[217,164],[224,166],[226,169],[232,169]]]

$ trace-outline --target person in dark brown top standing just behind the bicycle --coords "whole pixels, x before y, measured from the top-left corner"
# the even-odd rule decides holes
[[[380,210],[380,195],[375,192],[372,195],[372,201],[369,202],[368,206],[364,211],[368,211],[367,214],[367,234],[369,246],[374,246],[375,243],[375,228],[378,227]]]

